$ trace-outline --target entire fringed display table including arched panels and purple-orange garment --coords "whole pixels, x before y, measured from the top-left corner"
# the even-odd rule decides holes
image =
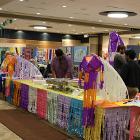
[[[42,77],[38,69],[20,57],[15,70],[13,79],[5,81],[6,101],[68,134],[85,140],[126,140],[130,122],[130,140],[140,135],[140,99],[125,100],[128,92],[123,80],[97,55],[83,58],[78,88],[65,79],[36,79],[36,75]]]

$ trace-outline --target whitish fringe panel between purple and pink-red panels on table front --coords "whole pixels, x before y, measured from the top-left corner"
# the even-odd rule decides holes
[[[37,89],[29,87],[29,104],[28,111],[31,113],[36,113],[37,108]]]

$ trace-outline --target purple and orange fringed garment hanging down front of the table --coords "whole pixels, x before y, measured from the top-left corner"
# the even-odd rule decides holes
[[[94,101],[96,101],[97,88],[103,88],[104,65],[97,55],[92,54],[83,58],[79,71],[80,85],[84,76],[83,125],[94,126]],[[97,82],[98,73],[100,73],[100,83]]]

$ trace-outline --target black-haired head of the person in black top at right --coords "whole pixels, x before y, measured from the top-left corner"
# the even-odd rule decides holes
[[[126,50],[125,51],[126,60],[134,60],[136,58],[136,53],[134,50]]]

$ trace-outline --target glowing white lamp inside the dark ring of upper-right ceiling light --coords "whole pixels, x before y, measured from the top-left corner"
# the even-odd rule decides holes
[[[125,12],[110,12],[107,16],[110,18],[127,18],[128,14]]]

